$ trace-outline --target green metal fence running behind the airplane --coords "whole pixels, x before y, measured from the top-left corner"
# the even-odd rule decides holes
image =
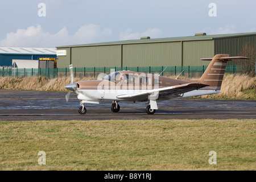
[[[203,75],[207,66],[199,67],[93,67],[93,68],[73,68],[75,77],[95,77],[98,74],[109,74],[113,71],[129,70],[143,73],[158,73],[161,76],[181,76],[200,77]],[[226,72],[238,73],[240,66],[227,65]],[[69,76],[69,68],[1,68],[0,76],[2,77],[30,77],[30,76],[46,76],[48,78],[67,77]]]

